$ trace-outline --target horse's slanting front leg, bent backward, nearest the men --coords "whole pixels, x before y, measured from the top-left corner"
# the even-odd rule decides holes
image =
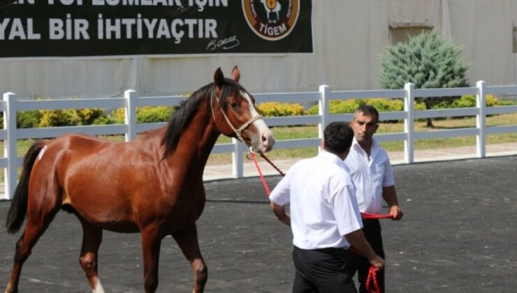
[[[208,278],[208,269],[201,256],[196,224],[173,233],[174,240],[194,269],[194,293],[203,293]]]

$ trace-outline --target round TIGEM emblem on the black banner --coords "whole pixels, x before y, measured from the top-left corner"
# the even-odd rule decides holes
[[[291,33],[300,14],[300,0],[242,0],[249,27],[266,40],[280,40]]]

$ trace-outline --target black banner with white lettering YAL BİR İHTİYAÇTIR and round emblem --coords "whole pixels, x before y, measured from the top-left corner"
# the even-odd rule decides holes
[[[312,0],[19,0],[0,8],[0,58],[312,52]]]

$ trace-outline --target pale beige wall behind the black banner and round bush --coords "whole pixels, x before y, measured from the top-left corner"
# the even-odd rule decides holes
[[[307,1],[307,0],[301,0]],[[390,27],[423,24],[463,47],[471,82],[515,84],[514,0],[313,1],[314,54],[211,57],[0,59],[0,92],[20,97],[122,96],[125,89],[170,95],[198,89],[237,64],[252,92],[379,89]]]

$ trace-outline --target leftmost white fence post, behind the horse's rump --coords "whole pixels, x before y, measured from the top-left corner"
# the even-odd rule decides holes
[[[3,112],[3,129],[7,131],[6,141],[3,143],[3,156],[7,158],[7,168],[4,169],[5,196],[13,199],[17,183],[18,156],[16,153],[16,94],[4,93],[6,111]]]

